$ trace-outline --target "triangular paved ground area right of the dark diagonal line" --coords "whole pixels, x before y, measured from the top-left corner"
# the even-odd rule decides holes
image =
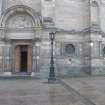
[[[67,86],[96,105],[105,105],[105,77],[62,79]]]

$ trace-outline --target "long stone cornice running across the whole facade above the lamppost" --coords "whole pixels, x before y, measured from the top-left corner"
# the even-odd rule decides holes
[[[15,28],[15,29],[9,29],[9,28],[5,28],[5,27],[0,27],[0,30],[3,31],[9,31],[9,32],[14,32],[14,31],[26,31],[26,32],[33,32],[33,31],[40,31],[40,30],[46,30],[46,31],[55,31],[56,33],[65,33],[65,34],[91,34],[91,33],[98,33],[101,34],[102,36],[105,36],[105,32],[102,31],[100,28],[93,28],[93,27],[88,27],[85,28],[83,30],[64,30],[64,29],[59,29],[59,28],[55,28],[55,27],[49,27],[49,28],[45,28],[45,27],[31,27],[31,28]]]

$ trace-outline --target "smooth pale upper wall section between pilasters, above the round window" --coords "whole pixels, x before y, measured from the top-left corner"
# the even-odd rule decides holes
[[[56,27],[64,30],[82,30],[90,25],[89,0],[56,0]]]

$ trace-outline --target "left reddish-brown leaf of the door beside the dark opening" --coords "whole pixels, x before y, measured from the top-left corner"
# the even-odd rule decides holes
[[[15,48],[15,72],[20,72],[20,46]]]

